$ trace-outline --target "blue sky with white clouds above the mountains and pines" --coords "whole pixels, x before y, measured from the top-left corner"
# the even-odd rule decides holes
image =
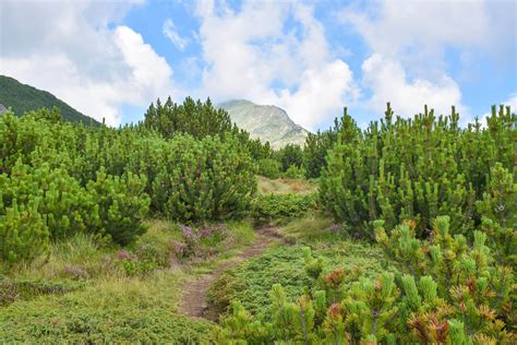
[[[0,74],[110,126],[152,102],[249,99],[326,129],[386,102],[461,123],[517,109],[517,0],[0,0]]]

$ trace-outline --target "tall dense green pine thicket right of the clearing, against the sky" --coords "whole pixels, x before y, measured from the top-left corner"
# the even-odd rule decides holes
[[[471,237],[482,217],[476,202],[486,192],[496,164],[498,174],[507,175],[515,201],[508,179],[515,174],[517,117],[509,108],[496,112],[494,107],[485,129],[479,122],[461,129],[458,119],[454,108],[449,116],[436,117],[425,107],[413,119],[393,120],[388,105],[381,123],[361,131],[345,112],[321,179],[322,204],[349,231],[364,237],[373,238],[377,218],[389,229],[413,219],[424,237],[440,215],[450,216],[453,234]]]

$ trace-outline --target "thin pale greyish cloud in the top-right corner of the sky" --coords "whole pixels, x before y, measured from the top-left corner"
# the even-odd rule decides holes
[[[501,55],[516,39],[515,1],[385,0],[342,9],[338,17],[373,52],[402,62],[416,76],[438,76],[447,47]],[[429,63],[432,61],[432,63]]]

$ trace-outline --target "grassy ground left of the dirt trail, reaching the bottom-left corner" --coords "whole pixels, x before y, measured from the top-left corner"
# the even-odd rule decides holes
[[[170,265],[170,242],[181,238],[180,228],[166,221],[147,224],[148,231],[124,248],[134,255],[152,254],[160,261],[158,269],[146,274],[128,276],[118,257],[121,248],[79,234],[53,243],[48,258],[37,265],[17,267],[3,281],[0,276],[0,298],[4,297],[0,343],[212,341],[215,323],[178,313],[182,290],[189,279],[209,272],[216,262],[251,243],[255,233],[245,222],[229,222],[221,255],[195,264]],[[55,288],[45,290],[41,286]],[[58,288],[63,286],[68,289]],[[15,300],[8,300],[10,296]]]

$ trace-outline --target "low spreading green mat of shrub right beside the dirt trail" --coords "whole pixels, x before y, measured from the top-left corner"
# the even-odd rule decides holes
[[[272,316],[269,292],[274,284],[281,284],[286,298],[293,301],[312,286],[314,272],[327,274],[342,267],[346,272],[375,277],[382,272],[393,271],[382,250],[369,243],[342,240],[336,236],[334,241],[311,238],[311,246],[312,252],[317,255],[315,262],[305,260],[303,246],[278,246],[226,272],[211,286],[208,307],[226,314],[231,301],[238,300],[258,319],[267,319]]]

